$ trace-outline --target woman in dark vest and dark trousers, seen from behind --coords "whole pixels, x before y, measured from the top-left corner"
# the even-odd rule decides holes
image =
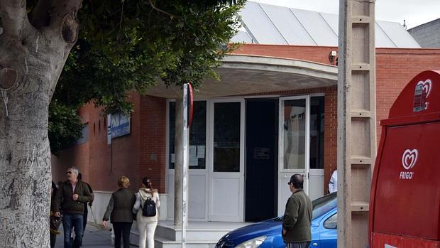
[[[107,221],[109,220],[113,225],[114,230],[114,247],[121,247],[121,236],[123,240],[123,248],[130,247],[130,230],[131,224],[133,224],[133,205],[136,201],[131,190],[128,190],[130,180],[126,176],[121,176],[118,180],[119,190],[116,190],[111,194],[109,205],[102,218],[102,225],[107,227]]]

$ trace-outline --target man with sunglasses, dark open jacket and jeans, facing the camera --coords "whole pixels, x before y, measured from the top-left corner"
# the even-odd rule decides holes
[[[79,171],[75,167],[67,169],[67,180],[58,188],[52,206],[55,216],[60,216],[61,206],[65,248],[81,247],[84,232],[84,203],[92,201],[89,187],[82,180],[78,180],[78,174]],[[72,227],[75,230],[75,240],[73,242],[71,237]]]

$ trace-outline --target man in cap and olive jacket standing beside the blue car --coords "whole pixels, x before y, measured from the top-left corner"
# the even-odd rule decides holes
[[[312,201],[304,193],[304,178],[295,174],[290,178],[290,195],[282,220],[282,238],[286,248],[308,248],[312,241],[310,222],[312,222]]]

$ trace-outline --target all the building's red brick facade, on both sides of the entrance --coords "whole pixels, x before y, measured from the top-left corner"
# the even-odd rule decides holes
[[[292,58],[329,64],[329,53],[334,47],[293,45],[243,45],[235,54],[264,55],[277,58]],[[376,114],[378,141],[381,119],[387,118],[388,109],[407,82],[423,70],[440,70],[440,49],[376,49]],[[325,95],[324,131],[324,192],[331,172],[336,169],[337,146],[337,89],[325,87],[288,92],[268,92],[263,95]],[[64,179],[67,164],[75,164],[84,173],[84,180],[92,183],[95,190],[111,191],[116,188],[119,176],[125,175],[137,188],[143,176],[152,178],[155,188],[165,193],[165,119],[166,100],[160,97],[133,94],[131,102],[134,112],[131,119],[131,134],[106,141],[106,117],[92,104],[85,105],[80,114],[84,123],[89,123],[89,139],[86,144],[63,151],[55,180]],[[55,162],[55,161],[54,161]],[[54,163],[55,164],[55,163]],[[60,169],[59,169],[60,168]],[[60,173],[62,171],[62,173]],[[59,177],[62,177],[59,179]]]

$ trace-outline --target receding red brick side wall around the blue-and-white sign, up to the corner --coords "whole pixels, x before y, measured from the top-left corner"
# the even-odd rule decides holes
[[[139,113],[140,97],[132,94],[134,112]],[[83,180],[89,182],[94,190],[114,191],[121,176],[131,180],[131,189],[137,190],[139,176],[139,132],[140,117],[131,117],[131,133],[112,139],[107,144],[107,117],[101,108],[86,104],[79,112],[84,123],[88,123],[89,137],[87,143],[73,146],[60,153],[57,167],[61,169],[75,165],[83,174]],[[56,171],[59,171],[58,169]],[[65,179],[63,179],[65,180]]]

